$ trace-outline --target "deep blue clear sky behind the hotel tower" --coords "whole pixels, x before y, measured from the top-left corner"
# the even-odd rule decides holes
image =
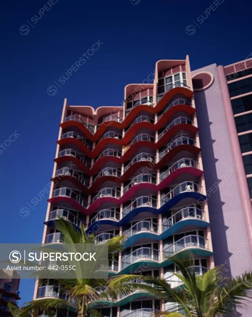
[[[20,134],[1,148],[1,243],[41,242],[48,194],[28,217],[19,210],[39,199],[52,175],[64,98],[70,105],[120,105],[124,86],[142,82],[159,59],[188,54],[193,70],[241,61],[252,52],[248,0],[225,0],[217,9],[212,5],[214,11],[201,24],[197,18],[206,17],[212,1],[58,0],[34,24],[45,3],[6,1],[1,6],[0,143],[15,131]],[[187,35],[192,20],[199,27]],[[20,33],[22,25],[29,26],[27,35]],[[47,88],[98,39],[104,43],[100,49],[49,96]],[[20,303],[32,299],[33,288],[32,280],[21,281]]]

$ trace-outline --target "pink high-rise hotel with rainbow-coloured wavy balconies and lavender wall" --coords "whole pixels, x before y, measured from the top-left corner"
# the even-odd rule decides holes
[[[218,274],[233,276],[252,268],[249,66],[191,71],[188,56],[161,60],[153,83],[125,87],[123,107],[65,100],[42,242],[62,241],[58,216],[84,223],[98,243],[124,235],[110,276],[141,272],[172,287],[181,281],[167,257],[186,250],[200,275],[220,264]],[[237,76],[227,81],[231,73]],[[34,299],[58,296],[51,280],[36,283]],[[100,307],[106,317],[168,308],[140,292]]]

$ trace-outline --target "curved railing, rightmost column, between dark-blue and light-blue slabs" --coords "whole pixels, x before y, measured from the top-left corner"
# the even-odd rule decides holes
[[[203,210],[197,207],[185,207],[177,211],[173,216],[162,222],[163,231],[172,227],[175,223],[185,219],[185,218],[196,218],[202,219]]]

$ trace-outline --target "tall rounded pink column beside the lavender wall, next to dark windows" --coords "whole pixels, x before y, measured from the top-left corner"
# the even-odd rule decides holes
[[[236,124],[234,119],[234,114],[232,110],[232,105],[230,101],[230,95],[228,91],[228,84],[226,82],[226,75],[224,71],[223,66],[217,67],[217,72],[220,80],[220,86],[222,88],[222,99],[224,104],[224,110],[227,118],[227,124],[228,124],[228,130],[230,135],[230,141],[231,141],[231,148],[233,152],[233,157],[235,160],[235,164],[237,165],[237,179],[242,199],[242,205],[243,205],[243,213],[244,218],[246,222],[246,229],[248,237],[252,237],[252,205],[251,205],[251,198],[247,183],[247,177],[244,170],[243,165],[243,158],[242,158],[242,152],[240,149],[239,139],[236,132]],[[250,252],[252,255],[252,244],[250,245]]]

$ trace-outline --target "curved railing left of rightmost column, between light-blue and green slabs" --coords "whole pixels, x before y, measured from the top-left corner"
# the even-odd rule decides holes
[[[138,260],[154,260],[159,261],[159,250],[142,247],[136,249],[128,256],[122,258],[122,269],[126,268],[128,265],[138,261]]]

